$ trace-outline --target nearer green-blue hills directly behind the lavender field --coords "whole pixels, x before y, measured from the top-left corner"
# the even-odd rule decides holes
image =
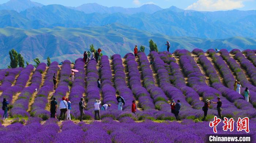
[[[166,41],[171,43],[171,52],[175,49],[201,48],[238,48],[244,50],[256,47],[256,39],[232,37],[228,39],[200,39],[191,37],[170,37],[159,33],[150,33],[122,24],[113,23],[101,27],[64,28],[54,27],[41,29],[20,29],[6,27],[0,29],[0,68],[10,64],[8,52],[14,48],[20,52],[25,61],[33,62],[35,57],[46,61],[74,61],[82,57],[84,51],[89,50],[89,45],[101,47],[104,55],[111,56],[115,53],[124,56],[132,52],[135,45],[144,45],[146,53],[149,52],[148,41],[153,39],[159,51],[166,50]]]

